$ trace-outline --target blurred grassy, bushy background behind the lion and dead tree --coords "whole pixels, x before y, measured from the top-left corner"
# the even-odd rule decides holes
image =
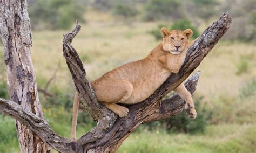
[[[161,41],[160,28],[191,28],[193,38],[230,13],[233,23],[203,60],[193,99],[198,117],[183,112],[140,126],[118,152],[256,152],[256,2],[254,0],[30,0],[32,60],[44,116],[59,135],[70,137],[75,86],[62,53],[63,34],[76,19],[82,30],[73,47],[95,80],[142,59]],[[3,47],[0,97],[9,99]],[[77,137],[95,126],[81,109]],[[0,152],[20,152],[15,121],[0,114]]]

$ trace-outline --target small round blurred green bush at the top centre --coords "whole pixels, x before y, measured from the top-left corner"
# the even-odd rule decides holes
[[[116,5],[114,5],[113,8],[113,15],[129,18],[134,17],[138,14],[138,10],[134,7],[132,4],[128,4],[125,2],[119,2]]]

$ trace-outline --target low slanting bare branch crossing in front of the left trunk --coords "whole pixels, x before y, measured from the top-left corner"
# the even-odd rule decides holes
[[[69,152],[71,148],[70,140],[58,136],[50,129],[48,122],[45,119],[38,117],[30,110],[21,105],[17,105],[14,101],[0,98],[0,112],[14,117],[16,120],[23,123],[33,131],[33,133],[37,134],[44,143],[49,144],[53,149]]]

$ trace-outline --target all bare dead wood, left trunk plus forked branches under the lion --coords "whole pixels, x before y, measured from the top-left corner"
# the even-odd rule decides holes
[[[224,13],[188,49],[180,71],[172,74],[143,102],[127,106],[130,112],[124,118],[117,117],[98,102],[87,81],[82,61],[75,48],[71,46],[73,38],[80,30],[77,24],[72,32],[64,35],[63,53],[79,99],[87,112],[97,121],[97,126],[73,143],[70,139],[53,132],[42,114],[30,57],[31,32],[26,0],[5,0],[1,5],[2,40],[11,101],[0,98],[0,112],[17,120],[17,133],[22,152],[47,152],[49,148],[46,144],[59,152],[115,152],[140,124],[168,119],[181,113],[184,101],[178,95],[166,100],[162,98],[196,69],[231,24],[231,18]],[[185,83],[191,93],[196,90],[199,75],[200,72],[197,72]]]

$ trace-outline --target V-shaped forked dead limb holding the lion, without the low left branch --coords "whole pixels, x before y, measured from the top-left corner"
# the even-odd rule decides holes
[[[208,27],[193,46],[188,49],[185,62],[179,72],[172,74],[156,92],[143,102],[127,106],[130,112],[122,119],[113,117],[114,114],[97,101],[90,83],[85,78],[86,73],[82,61],[75,48],[71,45],[72,39],[80,30],[80,26],[77,25],[71,33],[66,33],[63,40],[63,52],[79,93],[79,99],[93,119],[98,121],[98,125],[95,128],[77,141],[75,151],[116,151],[125,138],[129,136],[139,124],[165,119],[166,117],[171,117],[173,114],[176,114],[175,112],[179,112],[180,110],[176,109],[169,112],[169,115],[161,113],[161,111],[158,111],[158,114],[153,113],[155,107],[157,107],[156,109],[162,108],[161,106],[163,105],[161,105],[161,103],[163,102],[161,102],[161,99],[181,84],[181,82],[197,68],[208,52],[211,51],[218,40],[228,30],[231,21],[228,14],[224,13],[217,22],[214,22],[212,26]],[[180,108],[182,107],[183,105],[180,106]],[[160,110],[163,110],[163,108]],[[111,117],[108,115],[111,115]]]

